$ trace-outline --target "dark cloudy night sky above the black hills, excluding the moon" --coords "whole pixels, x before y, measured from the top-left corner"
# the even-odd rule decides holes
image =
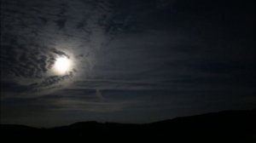
[[[255,54],[254,0],[1,0],[1,123],[252,109]]]

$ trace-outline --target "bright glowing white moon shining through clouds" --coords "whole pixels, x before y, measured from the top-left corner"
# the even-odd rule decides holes
[[[58,57],[53,66],[54,72],[58,75],[64,75],[71,70],[72,62],[66,56]]]

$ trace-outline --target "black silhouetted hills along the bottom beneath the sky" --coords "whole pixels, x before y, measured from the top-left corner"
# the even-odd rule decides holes
[[[0,129],[2,140],[79,139],[85,142],[89,140],[124,142],[139,139],[147,142],[148,140],[256,142],[256,110],[214,112],[146,124],[81,122],[51,129],[1,124]]]

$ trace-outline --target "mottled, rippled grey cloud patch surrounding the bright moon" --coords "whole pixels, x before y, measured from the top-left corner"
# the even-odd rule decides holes
[[[3,1],[2,8],[1,81],[23,89],[21,96],[49,94],[90,71],[92,51],[105,42],[111,16],[106,2],[15,0]],[[53,75],[61,55],[71,58],[74,67],[67,75]],[[6,97],[19,96],[8,86],[3,86]]]

